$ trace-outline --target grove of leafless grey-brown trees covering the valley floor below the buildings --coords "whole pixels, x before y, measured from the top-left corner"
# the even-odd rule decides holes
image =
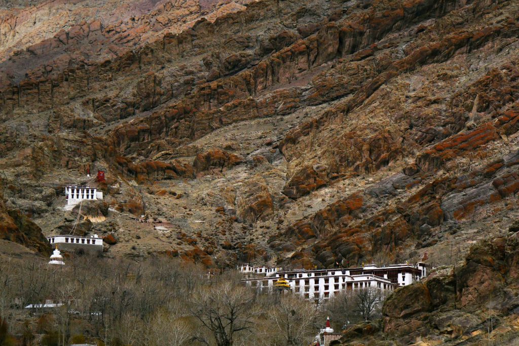
[[[321,306],[299,296],[257,295],[235,271],[208,276],[167,256],[143,262],[81,256],[64,267],[34,259],[0,268],[13,288],[4,299],[6,321],[23,336],[12,339],[6,322],[4,342],[17,345],[22,339],[46,346],[300,345],[325,318]],[[32,322],[17,325],[20,317]]]

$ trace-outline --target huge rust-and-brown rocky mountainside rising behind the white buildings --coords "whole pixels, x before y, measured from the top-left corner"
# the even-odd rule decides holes
[[[517,1],[18,3],[0,178],[46,235],[80,212],[114,256],[445,265],[517,217]],[[104,201],[65,212],[88,169]]]

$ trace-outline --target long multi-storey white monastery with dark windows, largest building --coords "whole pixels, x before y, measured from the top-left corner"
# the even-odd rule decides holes
[[[381,268],[367,265],[348,269],[282,271],[280,268],[242,266],[238,270],[246,276],[242,281],[260,292],[272,293],[276,281],[284,278],[293,293],[309,300],[329,299],[343,290],[369,287],[392,291],[427,276],[427,265],[422,262]]]

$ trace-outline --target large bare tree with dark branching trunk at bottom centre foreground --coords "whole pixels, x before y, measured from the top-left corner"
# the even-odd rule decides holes
[[[254,294],[231,281],[202,287],[191,300],[191,313],[212,334],[217,346],[232,346],[237,333],[250,331]],[[207,345],[210,340],[197,337]]]

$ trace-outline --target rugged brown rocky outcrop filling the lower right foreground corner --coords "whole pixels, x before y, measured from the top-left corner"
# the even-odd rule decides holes
[[[397,289],[384,302],[381,325],[349,328],[343,344],[363,339],[374,345],[390,340],[390,344],[514,345],[519,341],[518,270],[517,233],[476,244],[463,264]]]

